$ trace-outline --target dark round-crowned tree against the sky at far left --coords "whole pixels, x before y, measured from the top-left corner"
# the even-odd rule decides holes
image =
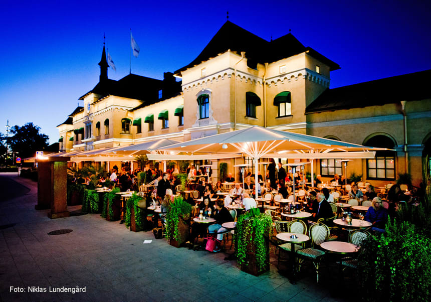
[[[36,151],[42,151],[48,146],[48,135],[39,133],[41,127],[32,122],[24,126],[15,125],[11,128],[10,137],[7,137],[8,144],[13,152],[17,152],[21,158],[33,157]]]

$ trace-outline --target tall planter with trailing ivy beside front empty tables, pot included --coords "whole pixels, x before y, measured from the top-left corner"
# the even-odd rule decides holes
[[[251,209],[238,218],[237,263],[241,270],[258,276],[269,270],[269,234],[271,216]]]

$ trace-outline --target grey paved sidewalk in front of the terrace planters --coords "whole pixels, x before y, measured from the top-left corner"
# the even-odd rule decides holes
[[[34,208],[37,183],[9,173],[0,174],[0,182],[15,192],[0,197],[2,301],[336,300],[326,289],[333,285],[316,284],[313,273],[292,285],[274,265],[255,277],[242,272],[236,261],[225,261],[224,253],[175,248],[151,232],[130,232],[99,214],[51,220],[48,210]],[[73,232],[47,234],[58,229]],[[152,242],[143,244],[145,239]],[[77,286],[85,292],[49,292]]]

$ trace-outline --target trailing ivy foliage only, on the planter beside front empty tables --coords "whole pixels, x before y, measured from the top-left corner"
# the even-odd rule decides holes
[[[236,238],[237,263],[238,265],[247,264],[247,251],[252,250],[251,244],[255,246],[256,265],[258,270],[268,267],[269,249],[265,237],[272,231],[271,216],[260,213],[259,209],[251,209],[241,215],[237,221]]]

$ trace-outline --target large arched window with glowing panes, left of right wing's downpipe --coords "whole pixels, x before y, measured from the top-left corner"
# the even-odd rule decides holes
[[[393,149],[395,143],[386,135],[375,135],[364,145]],[[367,159],[367,179],[395,180],[395,152],[377,151],[374,159]]]

